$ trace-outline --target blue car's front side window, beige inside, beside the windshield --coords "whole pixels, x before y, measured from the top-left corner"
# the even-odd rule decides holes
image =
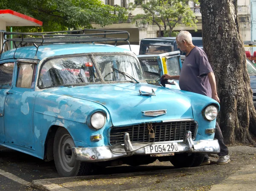
[[[16,87],[32,88],[34,64],[19,64]]]

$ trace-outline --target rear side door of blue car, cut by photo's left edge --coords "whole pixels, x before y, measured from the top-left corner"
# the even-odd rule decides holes
[[[0,141],[5,141],[4,135],[4,105],[6,95],[12,88],[12,79],[14,71],[14,62],[5,62],[0,64]]]

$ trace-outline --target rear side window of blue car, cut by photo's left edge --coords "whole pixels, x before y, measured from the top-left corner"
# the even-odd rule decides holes
[[[10,88],[12,86],[13,70],[14,63],[0,65],[0,88]]]

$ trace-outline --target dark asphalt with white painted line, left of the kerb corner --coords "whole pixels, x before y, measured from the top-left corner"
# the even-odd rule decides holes
[[[33,180],[58,177],[54,162],[0,146],[0,191],[35,190]]]

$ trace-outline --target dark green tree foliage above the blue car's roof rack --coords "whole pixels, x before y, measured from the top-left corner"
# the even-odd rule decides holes
[[[41,20],[43,27],[39,31],[91,29],[91,23],[106,26],[128,19],[125,8],[104,5],[101,0],[2,0],[0,6]]]

